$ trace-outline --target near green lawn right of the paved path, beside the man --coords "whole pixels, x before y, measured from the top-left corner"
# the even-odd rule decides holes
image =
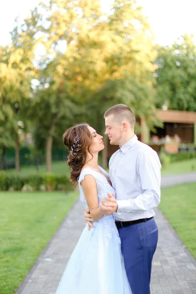
[[[196,183],[162,189],[159,207],[196,258]]]

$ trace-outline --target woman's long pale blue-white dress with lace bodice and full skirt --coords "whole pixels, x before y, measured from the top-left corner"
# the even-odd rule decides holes
[[[102,168],[101,170],[109,177],[107,172]],[[104,175],[85,168],[80,173],[78,184],[80,200],[86,207],[80,182],[87,174],[93,175],[96,180],[98,203],[108,192],[115,193]],[[95,228],[91,228],[90,231],[88,226],[85,226],[56,294],[131,294],[124,269],[121,241],[113,215],[103,217],[94,222],[94,225]]]

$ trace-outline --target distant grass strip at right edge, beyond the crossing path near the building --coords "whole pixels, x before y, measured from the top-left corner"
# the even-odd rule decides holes
[[[161,169],[162,175],[196,172],[196,158],[172,162],[165,169]]]

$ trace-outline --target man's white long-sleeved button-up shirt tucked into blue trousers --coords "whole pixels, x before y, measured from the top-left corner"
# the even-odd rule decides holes
[[[109,161],[109,175],[116,190],[117,221],[133,221],[155,215],[160,203],[161,164],[157,153],[136,135]]]

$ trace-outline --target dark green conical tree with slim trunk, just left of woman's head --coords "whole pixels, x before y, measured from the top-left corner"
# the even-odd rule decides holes
[[[77,113],[77,107],[66,90],[66,85],[59,83],[56,86],[58,75],[56,64],[58,60],[55,59],[41,72],[38,78],[39,84],[35,88],[34,98],[29,108],[29,117],[35,122],[35,145],[38,149],[46,148],[47,172],[52,171],[53,139],[62,138],[65,128],[73,124],[74,114]],[[60,79],[59,81],[61,82]]]

